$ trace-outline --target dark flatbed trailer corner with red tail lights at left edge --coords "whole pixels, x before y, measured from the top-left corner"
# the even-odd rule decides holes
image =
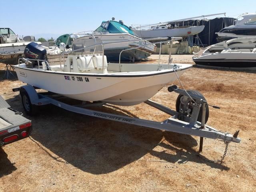
[[[0,147],[27,138],[31,131],[31,120],[12,109],[0,96]]]

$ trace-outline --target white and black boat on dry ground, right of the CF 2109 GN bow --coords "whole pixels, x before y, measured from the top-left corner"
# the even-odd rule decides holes
[[[198,66],[256,70],[256,37],[236,38],[207,47],[193,57]]]

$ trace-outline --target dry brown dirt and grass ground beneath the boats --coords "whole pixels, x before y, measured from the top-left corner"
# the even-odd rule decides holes
[[[166,62],[167,55],[161,57]],[[158,62],[152,55],[150,62]],[[192,55],[173,62],[193,63]],[[256,72],[190,68],[181,77],[186,89],[199,90],[209,104],[208,123],[219,130],[240,130],[242,142],[230,143],[223,163],[198,156],[199,138],[75,114],[51,106],[28,116],[30,138],[0,148],[0,191],[255,191]],[[24,112],[17,79],[3,80],[0,94]],[[174,82],[179,86],[178,81]],[[175,107],[178,94],[165,86],[152,100]],[[162,121],[168,115],[146,104],[98,110]],[[220,159],[223,142],[204,139],[202,156]]]

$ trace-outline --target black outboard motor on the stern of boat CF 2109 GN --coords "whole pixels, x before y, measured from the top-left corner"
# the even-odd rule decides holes
[[[35,42],[31,42],[28,44],[24,50],[24,57],[28,59],[39,59],[39,60],[47,60],[46,49]],[[37,61],[30,60],[33,64],[33,67],[38,66]],[[39,65],[42,66],[42,61],[39,62]]]

